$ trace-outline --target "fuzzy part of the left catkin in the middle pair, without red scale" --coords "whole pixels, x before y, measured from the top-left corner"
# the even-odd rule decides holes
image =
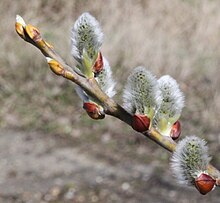
[[[139,66],[127,80],[123,93],[124,108],[130,113],[148,114],[160,103],[160,91],[156,77]]]

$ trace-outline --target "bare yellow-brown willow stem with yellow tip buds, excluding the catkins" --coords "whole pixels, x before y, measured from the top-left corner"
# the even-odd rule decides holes
[[[102,104],[106,114],[116,117],[131,126],[132,115],[114,100],[109,98],[101,90],[94,78],[86,78],[77,68],[67,65],[61,56],[55,52],[54,48],[44,39],[42,39],[37,28],[32,25],[24,25],[20,22],[16,22],[15,25],[16,31],[22,39],[37,47],[45,57],[50,58],[50,60],[48,60],[48,64],[56,75],[62,76],[79,85],[87,94]],[[142,134],[169,152],[173,152],[176,148],[175,141],[173,141],[170,137],[161,135],[154,128],[151,128]],[[219,170],[209,164],[208,173],[216,179],[217,186],[220,186]]]

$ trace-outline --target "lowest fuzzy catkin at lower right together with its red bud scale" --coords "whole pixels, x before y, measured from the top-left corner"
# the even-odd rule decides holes
[[[195,185],[201,194],[215,188],[215,179],[207,172],[211,158],[206,142],[190,136],[181,140],[171,158],[171,167],[181,184]]]

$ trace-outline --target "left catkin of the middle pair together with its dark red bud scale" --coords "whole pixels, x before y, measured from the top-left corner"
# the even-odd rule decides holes
[[[156,77],[144,67],[135,68],[128,77],[123,99],[124,108],[133,115],[132,127],[138,132],[151,127],[160,95]]]

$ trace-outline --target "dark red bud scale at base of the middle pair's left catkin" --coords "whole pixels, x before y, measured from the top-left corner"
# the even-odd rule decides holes
[[[138,132],[145,132],[149,129],[150,119],[146,115],[135,114],[132,119],[132,128]]]

